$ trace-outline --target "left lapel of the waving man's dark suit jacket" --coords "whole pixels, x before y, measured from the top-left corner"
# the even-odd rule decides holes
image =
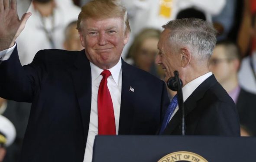
[[[81,112],[84,127],[84,139],[87,140],[91,113],[91,66],[84,50],[80,51],[74,68],[71,70],[75,94]]]

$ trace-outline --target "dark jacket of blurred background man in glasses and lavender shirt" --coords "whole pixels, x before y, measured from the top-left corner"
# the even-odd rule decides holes
[[[240,124],[256,136],[256,95],[241,89],[237,98],[237,111]]]

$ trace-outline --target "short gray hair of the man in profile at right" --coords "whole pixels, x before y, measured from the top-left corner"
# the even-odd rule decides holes
[[[170,42],[173,47],[187,46],[192,55],[201,59],[210,59],[217,31],[210,22],[202,19],[185,18],[169,21],[162,28],[170,29]]]

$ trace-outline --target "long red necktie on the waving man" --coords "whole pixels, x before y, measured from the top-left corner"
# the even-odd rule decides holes
[[[111,75],[109,70],[104,70],[98,91],[98,134],[116,135],[115,115],[110,92],[107,88],[107,78]]]

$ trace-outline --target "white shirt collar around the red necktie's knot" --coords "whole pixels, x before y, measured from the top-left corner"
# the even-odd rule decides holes
[[[91,65],[91,80],[95,81],[99,76],[100,73],[103,72],[103,69],[100,69],[96,65],[94,65],[92,62],[90,62]],[[114,65],[112,68],[108,69],[111,72],[111,75],[118,85],[119,83],[119,76],[121,75],[121,69],[122,69],[122,59],[120,57],[119,61],[116,65]]]

